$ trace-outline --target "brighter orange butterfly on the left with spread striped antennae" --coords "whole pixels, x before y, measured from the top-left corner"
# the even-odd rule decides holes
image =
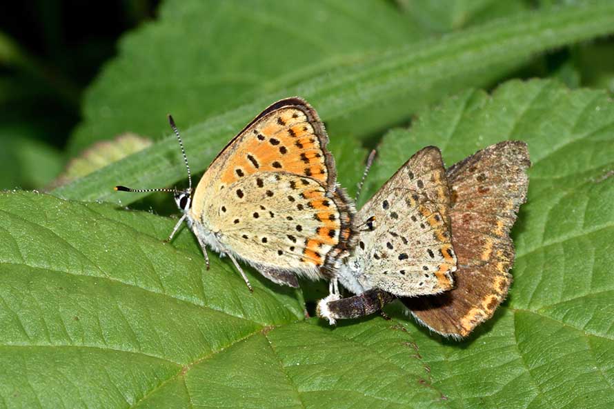
[[[183,216],[169,240],[186,221],[204,252],[245,261],[275,283],[298,287],[298,276],[332,275],[351,246],[353,202],[337,184],[328,135],[317,112],[299,97],[273,103],[219,152],[192,192],[188,188],[131,189],[172,192]]]

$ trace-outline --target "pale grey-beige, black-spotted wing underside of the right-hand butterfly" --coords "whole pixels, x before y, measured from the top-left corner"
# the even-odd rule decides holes
[[[364,287],[406,297],[452,287],[456,257],[447,223],[450,199],[444,172],[439,150],[424,148],[360,210],[354,257]]]

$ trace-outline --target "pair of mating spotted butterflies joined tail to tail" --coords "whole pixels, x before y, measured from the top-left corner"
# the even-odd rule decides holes
[[[217,155],[194,192],[170,123],[188,188],[116,190],[174,193],[184,215],[170,237],[186,220],[207,265],[207,247],[227,255],[250,290],[239,260],[293,287],[297,276],[339,279],[358,295],[339,299],[335,290],[321,301],[319,312],[330,321],[375,312],[395,297],[447,291],[446,301],[404,302],[433,330],[461,336],[504,299],[513,263],[509,229],[528,183],[524,143],[499,143],[447,171],[439,150],[424,148],[356,215],[337,183],[324,125],[303,99],[261,112]]]

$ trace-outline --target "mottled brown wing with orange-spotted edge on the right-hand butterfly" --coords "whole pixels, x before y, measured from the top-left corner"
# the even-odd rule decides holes
[[[505,299],[515,255],[509,235],[526,200],[529,166],[526,143],[504,141],[448,168],[456,286],[442,295],[403,299],[431,330],[465,337]]]

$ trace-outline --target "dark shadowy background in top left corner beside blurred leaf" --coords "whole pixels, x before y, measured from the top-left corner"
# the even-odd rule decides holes
[[[158,1],[33,0],[0,13],[0,188],[45,188],[61,172],[83,92],[124,32]]]

